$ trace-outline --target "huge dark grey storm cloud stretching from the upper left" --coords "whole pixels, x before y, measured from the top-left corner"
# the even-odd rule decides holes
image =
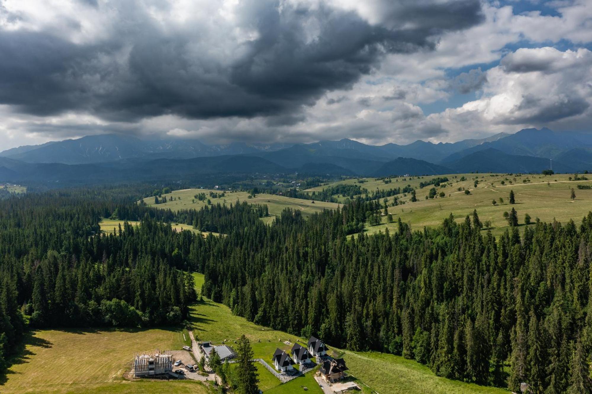
[[[93,44],[74,44],[53,31],[1,31],[0,104],[34,115],[85,111],[115,121],[290,115],[327,91],[349,88],[385,53],[433,49],[438,34],[482,18],[478,0],[385,2],[380,24],[323,4],[247,1],[238,23],[256,38],[233,43],[218,42],[224,32],[208,27],[160,28],[133,5],[122,5],[117,31]],[[76,29],[78,22],[63,23]],[[210,54],[224,45],[240,56],[224,63]]]

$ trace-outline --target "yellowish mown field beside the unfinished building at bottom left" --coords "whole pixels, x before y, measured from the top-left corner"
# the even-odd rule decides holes
[[[129,382],[134,355],[180,349],[182,331],[152,330],[45,330],[28,335],[21,356],[9,369],[2,393],[202,393],[196,382]],[[139,383],[139,386],[136,386]],[[179,386],[175,386],[181,383]],[[163,385],[163,386],[160,386]],[[166,387],[165,387],[166,386]],[[178,387],[178,390],[177,390]]]

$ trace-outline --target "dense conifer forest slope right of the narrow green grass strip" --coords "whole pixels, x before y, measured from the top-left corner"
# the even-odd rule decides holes
[[[355,204],[218,239],[198,267],[205,295],[258,324],[403,354],[453,379],[590,390],[592,214],[497,240],[475,215],[348,241],[343,224],[365,211]]]

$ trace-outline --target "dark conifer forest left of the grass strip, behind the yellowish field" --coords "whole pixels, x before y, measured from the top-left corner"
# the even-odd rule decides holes
[[[62,191],[0,201],[0,372],[31,327],[178,324],[195,300],[189,259],[197,240],[172,231],[176,219],[201,228],[252,225],[265,207],[212,206],[173,212],[117,197],[120,190]],[[101,234],[102,217],[141,220]],[[197,242],[199,242],[197,241]],[[195,251],[194,251],[195,253]]]

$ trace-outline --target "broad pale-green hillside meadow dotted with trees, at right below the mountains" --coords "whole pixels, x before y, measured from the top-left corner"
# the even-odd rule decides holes
[[[376,189],[391,189],[403,188],[406,185],[416,188],[417,202],[411,202],[411,194],[400,194],[398,197],[405,201],[406,204],[389,206],[388,213],[393,215],[394,222],[388,223],[386,217],[382,217],[382,224],[376,226],[366,225],[366,234],[374,234],[378,231],[383,231],[388,228],[389,231],[397,230],[397,220],[401,218],[403,222],[411,224],[411,230],[422,230],[425,227],[436,227],[442,224],[443,219],[447,218],[451,213],[456,221],[463,221],[468,214],[472,214],[474,209],[481,222],[491,221],[491,231],[494,235],[499,235],[508,227],[506,219],[503,217],[505,211],[510,211],[511,208],[518,212],[518,219],[520,223],[520,230],[525,228],[525,215],[529,214],[532,218],[532,223],[536,218],[542,221],[550,222],[556,219],[563,223],[574,219],[578,223],[588,211],[592,209],[592,189],[578,189],[577,185],[592,185],[592,175],[583,175],[590,180],[569,180],[572,174],[556,174],[551,176],[544,175],[490,175],[490,174],[452,174],[440,175],[439,177],[448,177],[449,182],[445,187],[436,188],[437,193],[444,192],[445,196],[440,198],[437,196],[434,199],[425,199],[430,188],[433,185],[424,186],[419,189],[419,183],[425,182],[433,177],[438,176],[424,176],[422,178],[408,177],[403,180],[403,177],[392,178],[392,182],[385,184],[382,180],[374,178],[366,179],[368,182],[359,183],[362,188],[369,191]],[[461,180],[465,177],[465,180]],[[478,181],[475,187],[475,180]],[[530,180],[530,182],[523,182],[523,180]],[[504,185],[501,185],[501,182]],[[353,184],[359,182],[358,179],[348,179],[340,182],[332,183],[337,185],[339,183]],[[511,182],[511,184],[510,184]],[[321,190],[327,187],[319,186],[318,188],[307,189]],[[461,188],[461,190],[458,190]],[[574,201],[570,199],[571,188],[574,188],[576,198]],[[465,194],[464,190],[469,190],[471,194]],[[510,190],[514,190],[516,204],[509,204]],[[503,198],[503,204],[500,204],[499,199]],[[392,202],[392,196],[389,202]],[[497,204],[493,205],[492,200],[495,199]],[[381,199],[382,203],[382,199]],[[533,224],[532,224],[533,225]]]

